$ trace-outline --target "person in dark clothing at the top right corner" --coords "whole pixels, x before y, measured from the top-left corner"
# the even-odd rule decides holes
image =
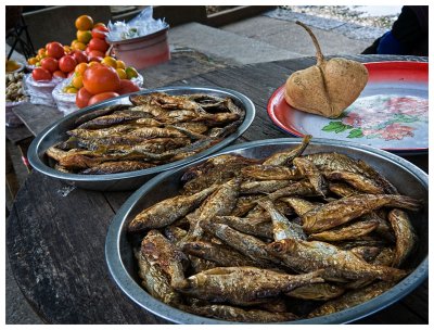
[[[361,53],[427,56],[427,5],[404,5],[392,29]]]

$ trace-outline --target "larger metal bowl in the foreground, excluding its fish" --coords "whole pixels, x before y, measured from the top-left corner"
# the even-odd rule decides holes
[[[260,158],[276,151],[296,145],[299,139],[275,139],[247,142],[232,145],[216,153],[215,155],[235,153],[247,157]],[[406,294],[414,290],[425,278],[427,278],[427,175],[411,163],[393,155],[388,152],[365,147],[360,144],[341,142],[336,140],[314,139],[306,149],[307,153],[340,152],[352,157],[366,161],[378,172],[388,178],[396,188],[406,195],[421,199],[424,208],[418,214],[418,220],[413,221],[414,229],[419,236],[419,246],[414,257],[408,267],[414,269],[408,277],[401,280],[387,292],[358,306],[317,317],[291,321],[290,323],[347,323],[356,319],[375,313]],[[213,156],[215,156],[213,155]],[[207,157],[208,158],[208,157]],[[132,249],[127,238],[127,224],[144,207],[155,202],[177,194],[180,188],[182,174],[191,166],[204,162],[205,158],[164,173],[148,181],[135,192],[119,208],[111,224],[105,241],[106,262],[113,279],[119,288],[138,305],[149,312],[176,323],[228,323],[226,321],[200,317],[173,308],[158,300],[152,297],[140,287],[138,269],[132,255]]]

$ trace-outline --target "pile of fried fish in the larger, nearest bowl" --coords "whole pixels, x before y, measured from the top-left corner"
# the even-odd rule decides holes
[[[188,169],[178,195],[128,224],[145,290],[188,313],[245,322],[328,315],[409,274],[417,242],[401,195],[341,153],[224,154]]]

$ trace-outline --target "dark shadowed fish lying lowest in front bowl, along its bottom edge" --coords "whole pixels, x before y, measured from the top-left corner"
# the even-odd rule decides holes
[[[268,312],[258,308],[244,309],[230,305],[200,305],[179,306],[182,310],[199,314],[201,316],[214,317],[232,322],[284,322],[298,319],[298,316],[290,312]]]

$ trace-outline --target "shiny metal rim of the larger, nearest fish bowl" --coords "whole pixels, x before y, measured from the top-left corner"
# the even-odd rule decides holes
[[[268,139],[260,141],[252,141],[240,143],[231,147],[227,147],[216,154],[212,156],[217,156],[224,153],[228,153],[231,151],[240,151],[250,149],[253,147],[263,147],[270,144],[284,144],[288,142],[297,142],[299,143],[302,139],[299,138],[282,138],[282,139]],[[352,149],[361,150],[363,152],[375,154],[376,156],[381,156],[382,158],[386,158],[387,161],[394,163],[396,166],[400,166],[409,170],[414,177],[419,179],[419,181],[426,188],[429,187],[427,175],[411,164],[410,162],[394,155],[387,151],[383,151],[380,149],[375,149],[365,144],[357,144],[353,142],[331,140],[331,139],[312,139],[310,144],[328,144],[328,145],[336,145],[336,147],[348,147]],[[206,158],[208,158],[206,157]],[[194,166],[195,164],[204,162],[206,158],[197,160],[193,163],[186,164],[186,167]],[[155,185],[157,185],[161,180],[169,177],[174,172],[181,170],[183,167],[177,168],[171,172],[162,173],[158,176],[152,178],[146,183],[144,183],[140,189],[138,189],[118,210],[115,217],[112,220],[111,226],[107,230],[107,236],[105,240],[105,261],[108,266],[108,270],[112,275],[112,278],[117,283],[117,285],[124,291],[124,293],[136,302],[142,308],[149,310],[150,313],[166,319],[168,321],[175,323],[200,323],[200,325],[233,325],[237,322],[230,322],[225,320],[218,320],[213,318],[206,318],[199,315],[189,314],[182,312],[181,309],[170,307],[165,303],[154,299],[142,287],[140,287],[135,279],[132,279],[128,270],[125,268],[122,262],[120,255],[120,239],[122,239],[122,228],[127,219],[131,208],[135,206],[136,202],[145,194],[150,189],[152,189]],[[302,319],[289,322],[281,323],[306,323],[306,325],[315,325],[315,323],[323,323],[323,325],[332,325],[332,323],[348,323],[360,318],[365,318],[371,314],[374,314],[398,300],[403,299],[407,294],[409,294],[412,290],[419,287],[426,278],[429,271],[429,258],[427,256],[418,265],[413,271],[403,279],[399,283],[394,285],[392,289],[387,290],[383,294],[366,302],[359,304],[357,306],[347,308],[342,312],[333,313],[326,316],[315,317],[310,319]],[[372,307],[374,306],[374,307]],[[276,322],[277,325],[279,322]],[[241,322],[240,322],[241,325]]]

